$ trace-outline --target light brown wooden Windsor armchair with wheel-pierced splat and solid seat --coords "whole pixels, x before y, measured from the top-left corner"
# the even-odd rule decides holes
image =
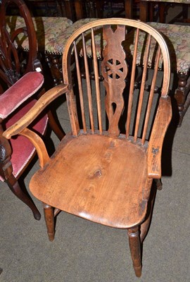
[[[133,54],[127,45],[128,28],[135,30]],[[134,82],[138,76],[137,58],[141,56],[138,42],[144,33],[147,35],[144,69],[137,90]],[[97,36],[105,43],[100,68]],[[88,42],[95,82],[89,78]],[[155,42],[159,45],[155,68],[148,73],[149,49]],[[124,44],[128,52],[124,51]],[[72,84],[73,59],[77,73],[75,85]],[[162,92],[157,96],[154,88],[160,60]],[[80,63],[84,65],[85,80],[81,78]],[[100,75],[103,82],[99,81]],[[147,75],[151,88],[145,91]],[[125,228],[134,271],[136,276],[141,276],[141,244],[148,231],[156,193],[152,184],[154,179],[160,184],[163,140],[172,117],[167,45],[160,33],[145,23],[122,18],[96,20],[80,27],[68,39],[63,52],[63,78],[63,85],[46,92],[3,135],[8,139],[24,135],[37,149],[41,168],[32,176],[30,190],[44,203],[49,240],[54,238],[54,217],[61,211],[106,226]],[[27,127],[61,95],[67,98],[71,132],[50,158],[44,142]]]

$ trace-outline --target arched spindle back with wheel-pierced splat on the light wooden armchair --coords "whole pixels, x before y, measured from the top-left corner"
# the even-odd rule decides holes
[[[143,53],[139,48],[141,37]],[[142,66],[138,65],[139,61]],[[158,81],[160,62],[163,77]],[[72,84],[73,68],[68,63],[76,68],[77,84]],[[70,85],[67,95],[72,123],[78,118],[76,126],[72,124],[74,135],[80,133],[80,124],[87,134],[122,136],[144,145],[151,137],[158,99],[167,97],[169,92],[169,52],[163,37],[144,23],[115,18],[96,20],[80,27],[68,39],[63,53],[63,78]],[[162,92],[156,94],[158,82]],[[75,106],[73,99],[80,105]]]

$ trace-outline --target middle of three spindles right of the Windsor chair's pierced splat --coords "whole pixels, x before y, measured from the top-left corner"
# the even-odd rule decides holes
[[[139,104],[138,104],[138,109],[137,109],[136,125],[135,125],[135,130],[134,130],[134,142],[137,141],[137,137],[138,137],[139,122],[141,118],[141,109],[142,109],[142,104],[143,104],[143,99],[144,99],[146,75],[148,71],[148,57],[150,53],[150,47],[151,47],[151,35],[148,35],[146,52],[144,56],[144,69],[143,69],[142,78],[141,78],[141,88],[140,88],[140,93],[139,93]]]

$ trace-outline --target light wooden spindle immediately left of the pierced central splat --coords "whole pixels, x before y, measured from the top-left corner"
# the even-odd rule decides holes
[[[95,76],[95,86],[96,86],[96,102],[97,102],[97,111],[99,119],[99,131],[102,134],[102,120],[101,120],[101,95],[100,95],[100,84],[99,84],[99,66],[96,56],[96,44],[94,39],[94,30],[91,28],[91,45],[92,45],[92,54],[94,60],[94,76]]]

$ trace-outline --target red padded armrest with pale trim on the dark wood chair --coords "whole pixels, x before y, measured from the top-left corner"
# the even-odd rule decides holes
[[[29,97],[39,90],[44,83],[42,73],[32,71],[15,82],[6,92],[0,95],[0,118],[6,118]]]

